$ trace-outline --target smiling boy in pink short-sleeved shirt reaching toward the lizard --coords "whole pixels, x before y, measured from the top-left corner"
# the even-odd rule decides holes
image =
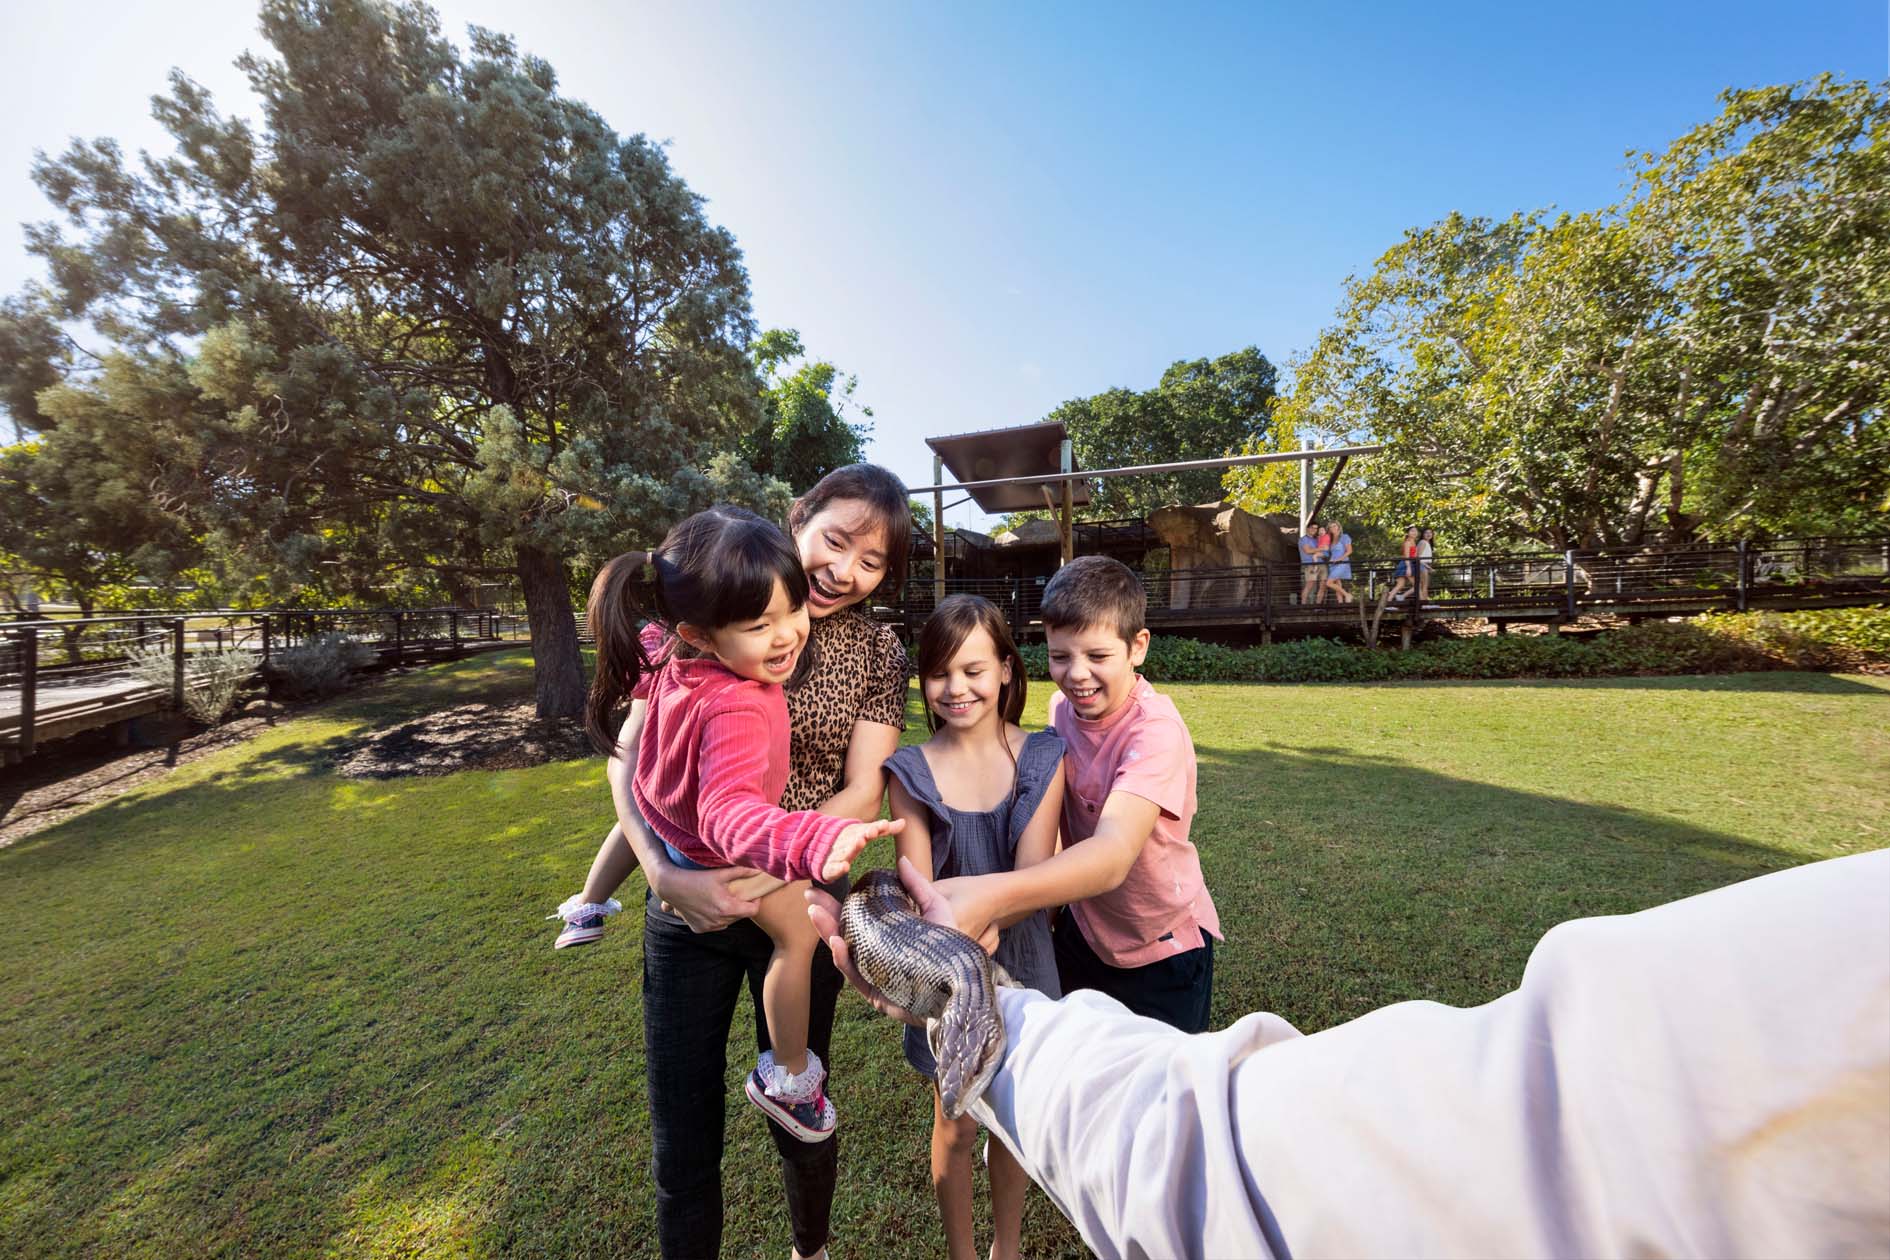
[[[1181,1031],[1208,1028],[1221,918],[1189,841],[1194,742],[1174,701],[1136,673],[1147,595],[1123,563],[1083,555],[1043,587],[1051,727],[1062,735],[1062,852],[1009,875],[945,880],[958,926],[1062,905],[1057,975]]]

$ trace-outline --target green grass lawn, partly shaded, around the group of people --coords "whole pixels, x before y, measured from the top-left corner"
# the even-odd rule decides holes
[[[520,654],[387,680],[0,850],[0,1252],[654,1254],[635,918],[563,952],[541,920],[609,826],[601,763],[325,769],[527,688]],[[1563,918],[1890,843],[1890,680],[1164,691],[1228,935],[1215,1024],[1486,1001]],[[726,1249],[779,1258],[745,1018]],[[841,1254],[939,1254],[924,1082],[850,994],[835,1039]],[[1030,1211],[1032,1254],[1079,1251]]]

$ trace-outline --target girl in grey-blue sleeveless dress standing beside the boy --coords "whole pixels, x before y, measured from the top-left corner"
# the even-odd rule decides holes
[[[1004,614],[977,595],[945,599],[919,637],[919,686],[932,739],[900,748],[892,773],[892,816],[905,822],[900,856],[934,878],[1032,867],[1057,848],[1062,809],[1062,739],[1024,735],[1024,661]],[[1043,911],[1002,924],[998,963],[1015,980],[1060,997],[1057,954]],[[905,1030],[905,1060],[932,1077],[937,1065],[924,1033]],[[945,1115],[932,1094],[932,1190],[945,1218],[953,1260],[977,1254],[971,1224],[971,1149],[977,1120]],[[1022,1247],[1030,1181],[1004,1143],[990,1143],[992,1260]]]

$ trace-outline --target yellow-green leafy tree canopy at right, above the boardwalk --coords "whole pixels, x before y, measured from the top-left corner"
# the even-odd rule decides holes
[[[1406,232],[1295,365],[1276,440],[1383,442],[1340,510],[1484,546],[1881,529],[1886,123],[1864,83],[1735,91],[1618,206]],[[1280,506],[1278,474],[1228,485]]]

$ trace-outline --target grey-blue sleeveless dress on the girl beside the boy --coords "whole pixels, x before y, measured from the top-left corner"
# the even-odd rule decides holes
[[[1038,803],[1043,801],[1051,778],[1060,773],[1062,754],[1064,742],[1055,731],[1036,731],[1024,737],[1024,746],[1017,752],[1015,803],[1005,797],[998,809],[987,814],[970,814],[945,805],[932,780],[926,754],[917,744],[892,754],[886,769],[930,814],[932,878],[1017,869],[1017,837],[1030,826],[1030,816],[1038,812]],[[1062,997],[1062,986],[1057,984],[1057,950],[1051,946],[1051,920],[1043,911],[1002,931],[996,962],[1019,984],[1028,984],[1051,997]],[[926,1047],[926,1035],[919,1028],[905,1030],[905,1062],[928,1077],[937,1073],[937,1064],[932,1062],[932,1050]]]

